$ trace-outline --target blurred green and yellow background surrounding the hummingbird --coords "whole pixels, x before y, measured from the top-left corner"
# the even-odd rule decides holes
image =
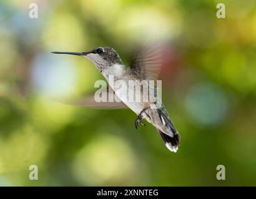
[[[39,18],[29,18],[36,2]],[[256,185],[254,0],[0,2],[0,185]],[[104,79],[89,60],[51,51],[167,40],[162,97],[182,141],[169,152],[129,109],[68,106]],[[39,180],[29,180],[29,165]],[[217,165],[226,180],[217,180]]]

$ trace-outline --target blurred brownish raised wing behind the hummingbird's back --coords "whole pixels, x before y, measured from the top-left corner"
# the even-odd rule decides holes
[[[140,80],[157,80],[163,65],[163,50],[160,44],[140,48],[132,57],[130,72]]]

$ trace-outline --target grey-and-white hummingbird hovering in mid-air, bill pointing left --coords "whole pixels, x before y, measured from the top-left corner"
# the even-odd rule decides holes
[[[116,50],[111,47],[97,47],[88,52],[52,52],[56,54],[69,54],[78,55],[89,58],[96,68],[108,81],[110,75],[114,76],[114,81],[117,80],[156,80],[160,70],[160,65],[157,59],[157,50],[147,49],[137,53],[132,58],[130,67],[126,67],[119,57]],[[160,101],[159,108],[150,108],[155,102],[136,102],[124,100],[121,88],[115,88],[109,85],[110,89],[114,90],[114,94],[121,99],[122,104],[132,109],[137,114],[135,119],[135,128],[139,129],[139,124],[143,123],[142,119],[146,119],[149,123],[156,127],[165,146],[172,152],[177,152],[180,136],[179,132],[175,129],[167,110]],[[120,105],[120,103],[119,103]],[[115,105],[110,105],[115,106]]]

